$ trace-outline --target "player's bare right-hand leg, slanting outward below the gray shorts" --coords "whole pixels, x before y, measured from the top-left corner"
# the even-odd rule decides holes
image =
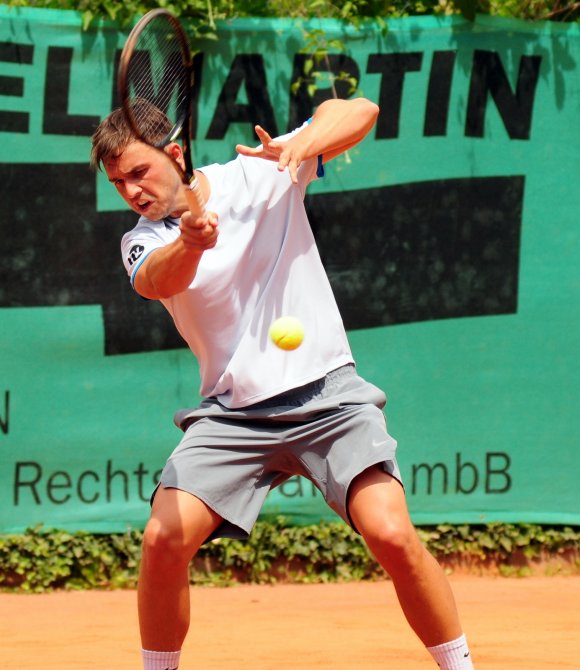
[[[460,638],[453,593],[441,566],[413,527],[400,483],[379,466],[369,468],[351,485],[349,513],[393,580],[407,621],[425,646],[436,647]]]

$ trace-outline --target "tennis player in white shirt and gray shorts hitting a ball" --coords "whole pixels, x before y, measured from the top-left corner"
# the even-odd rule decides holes
[[[473,667],[447,580],[409,518],[385,395],[356,373],[303,205],[322,164],[360,142],[377,115],[364,98],[330,100],[276,140],[257,127],[260,146],[239,145],[235,160],[196,171],[208,210],[199,218],[170,161],[136,141],[119,110],[93,136],[92,165],[140,215],[121,244],[133,287],[172,315],[204,398],[176,414],[184,435],[144,532],[145,670],[178,667],[199,547],[247,537],[268,491],[296,474],[362,535],[439,667]],[[178,144],[166,152],[182,161]],[[268,337],[283,315],[305,328],[292,352]]]

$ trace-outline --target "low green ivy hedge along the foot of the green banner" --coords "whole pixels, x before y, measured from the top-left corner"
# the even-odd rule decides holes
[[[504,575],[525,575],[534,562],[580,572],[580,527],[530,524],[439,525],[418,529],[421,539],[449,567],[493,565]],[[141,531],[122,535],[68,533],[37,527],[0,535],[0,589],[134,588]],[[384,578],[360,537],[342,522],[288,526],[284,519],[258,522],[247,542],[204,545],[191,564],[191,582],[331,582]]]

